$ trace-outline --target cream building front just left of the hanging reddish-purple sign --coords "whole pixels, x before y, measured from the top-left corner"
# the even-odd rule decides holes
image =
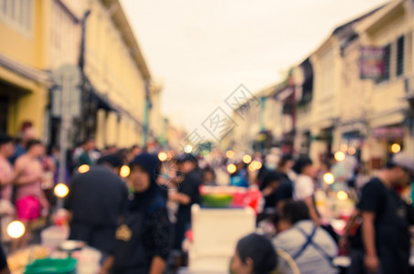
[[[366,133],[366,117],[362,115],[367,103],[364,101],[366,92],[362,92],[359,85],[359,61],[355,54],[351,54],[352,50],[357,50],[358,55],[359,47],[350,47],[349,44],[358,37],[356,27],[380,11],[381,8],[377,8],[336,27],[309,57],[308,73],[313,74],[313,87],[308,87],[308,90],[311,90],[312,102],[307,102],[298,111],[297,123],[304,125],[305,119],[306,127],[301,126],[302,141],[296,138],[296,147],[307,142],[309,155],[316,162],[339,150],[344,142],[349,144],[349,138],[355,137],[354,142],[359,138],[358,134]],[[350,78],[355,77],[356,81],[352,82]],[[303,80],[299,79],[299,86]]]

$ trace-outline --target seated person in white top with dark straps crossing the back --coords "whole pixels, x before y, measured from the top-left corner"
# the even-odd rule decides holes
[[[302,274],[336,273],[333,258],[338,250],[334,239],[324,228],[315,226],[307,205],[293,201],[283,205],[276,227],[273,246],[287,252]]]

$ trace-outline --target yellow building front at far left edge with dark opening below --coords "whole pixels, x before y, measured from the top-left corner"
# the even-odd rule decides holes
[[[0,1],[0,132],[17,135],[23,123],[44,136],[48,103],[50,1]]]

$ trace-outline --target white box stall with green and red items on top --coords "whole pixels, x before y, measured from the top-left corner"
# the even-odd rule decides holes
[[[257,189],[201,187],[202,205],[193,205],[188,268],[179,273],[228,273],[239,238],[255,232],[261,198]]]

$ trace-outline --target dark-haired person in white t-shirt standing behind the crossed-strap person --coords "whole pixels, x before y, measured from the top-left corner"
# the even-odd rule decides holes
[[[321,223],[313,201],[313,178],[316,177],[317,171],[313,167],[312,160],[307,156],[301,156],[294,164],[293,171],[299,174],[293,183],[293,200],[303,201],[309,208],[313,222],[320,227]]]

